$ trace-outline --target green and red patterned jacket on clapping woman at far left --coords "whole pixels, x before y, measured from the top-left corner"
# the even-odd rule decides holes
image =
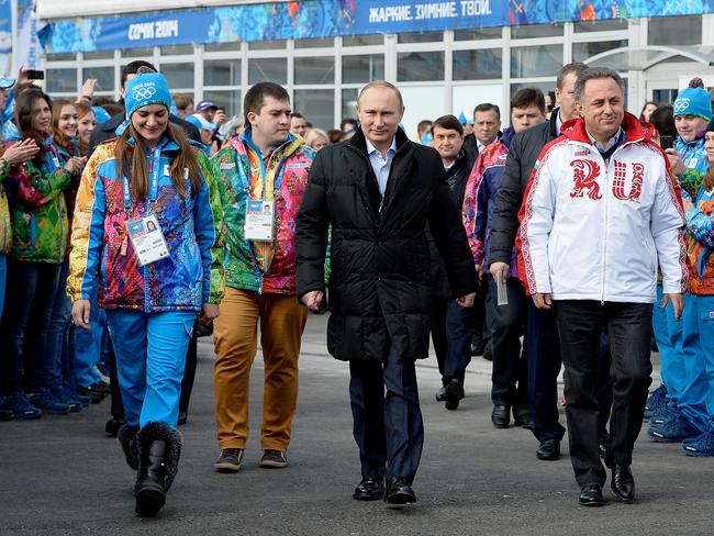
[[[5,148],[16,142],[8,142]],[[12,256],[27,263],[64,263],[67,258],[67,205],[63,191],[70,175],[60,167],[52,137],[45,139],[45,159],[12,166],[5,190],[12,222]]]

